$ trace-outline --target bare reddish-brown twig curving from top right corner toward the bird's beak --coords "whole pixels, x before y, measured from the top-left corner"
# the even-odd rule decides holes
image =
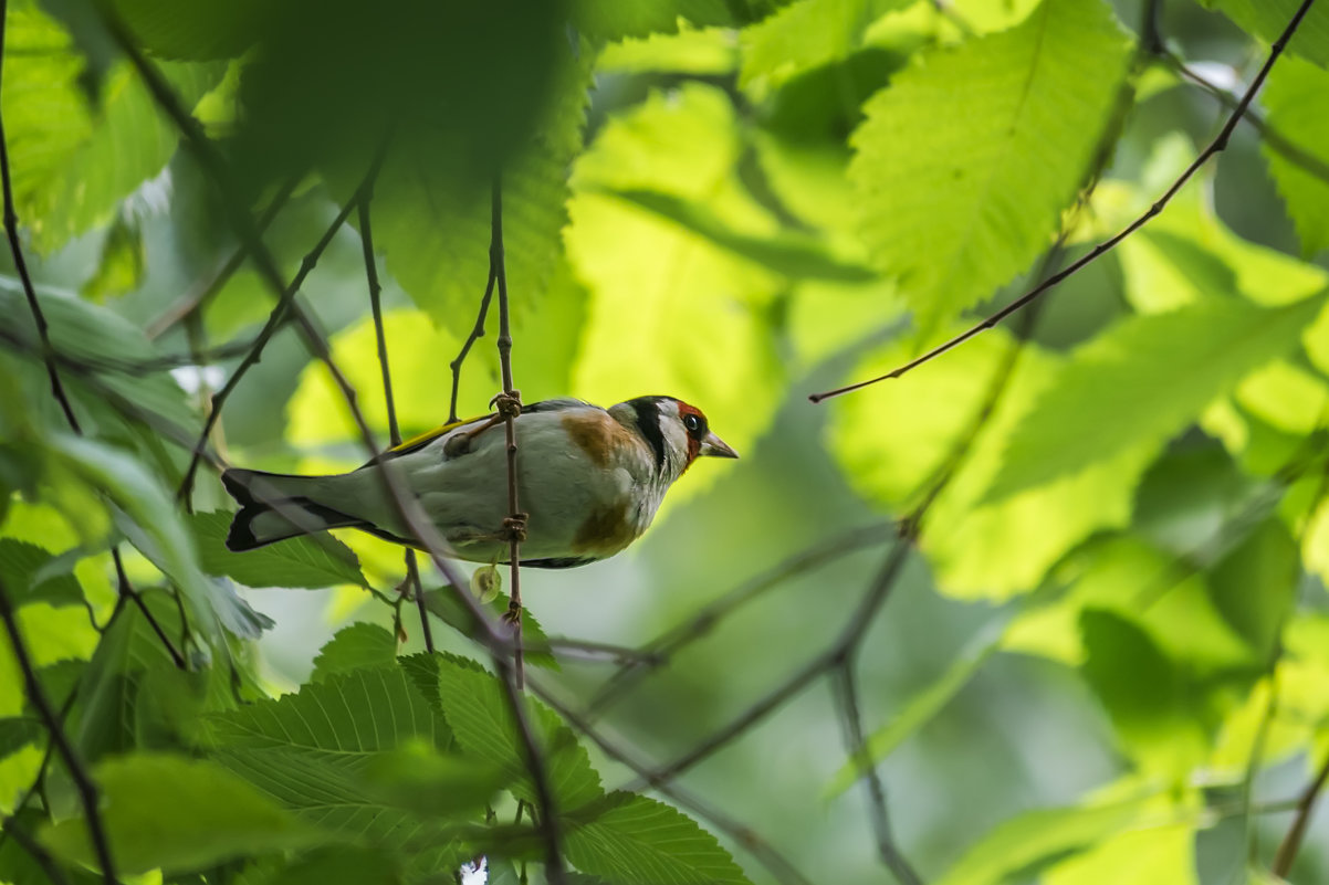
[[[1200,166],[1203,166],[1205,162],[1209,161],[1211,157],[1220,153],[1228,146],[1228,138],[1232,136],[1232,130],[1236,129],[1237,122],[1241,120],[1243,114],[1245,114],[1247,108],[1255,100],[1256,93],[1260,92],[1260,88],[1264,85],[1265,77],[1268,77],[1269,70],[1273,69],[1273,62],[1277,61],[1278,56],[1282,54],[1282,50],[1288,45],[1288,40],[1292,39],[1292,35],[1297,32],[1297,28],[1301,25],[1301,20],[1305,17],[1306,11],[1310,9],[1312,3],[1314,3],[1314,0],[1301,0],[1301,5],[1297,7],[1297,11],[1296,13],[1293,13],[1292,20],[1288,21],[1288,27],[1282,29],[1282,33],[1278,35],[1278,39],[1275,40],[1273,45],[1269,48],[1269,57],[1265,58],[1264,65],[1261,65],[1259,73],[1256,73],[1255,76],[1255,80],[1251,81],[1251,85],[1247,88],[1245,93],[1243,93],[1241,98],[1236,104],[1236,108],[1228,116],[1227,122],[1223,124],[1223,128],[1219,130],[1219,134],[1215,136],[1213,141],[1211,141],[1208,146],[1205,146],[1205,149],[1200,151],[1200,154],[1191,162],[1191,165],[1188,165],[1181,171],[1180,175],[1177,175],[1176,181],[1174,181],[1167,187],[1167,190],[1163,191],[1163,195],[1155,199],[1150,205],[1150,207],[1144,210],[1144,213],[1140,214],[1135,221],[1123,227],[1111,238],[1100,242],[1098,246],[1091,248],[1088,252],[1086,252],[1076,260],[1071,262],[1062,271],[1053,274],[1051,276],[1049,276],[1038,286],[1035,286],[1034,288],[1029,290],[1027,292],[1017,298],[1006,307],[1001,308],[995,314],[991,314],[990,316],[987,316],[987,319],[982,320],[975,326],[971,326],[968,331],[961,332],[960,335],[952,338],[950,340],[938,344],[937,347],[925,352],[922,356],[914,357],[913,360],[909,360],[904,365],[894,368],[886,372],[885,375],[878,375],[877,377],[870,377],[864,381],[856,381],[853,384],[837,387],[835,389],[824,391],[821,393],[812,393],[808,396],[808,399],[812,400],[813,403],[821,403],[823,400],[828,400],[833,396],[851,393],[853,391],[860,391],[865,387],[877,384],[880,381],[885,381],[888,379],[900,377],[905,372],[909,372],[910,369],[914,369],[922,365],[924,363],[929,363],[937,359],[942,353],[946,353],[948,351],[960,347],[961,344],[974,338],[975,335],[979,335],[981,332],[993,328],[994,326],[1001,323],[1003,319],[1006,319],[1015,311],[1031,303],[1043,292],[1051,290],[1053,287],[1066,280],[1069,276],[1079,272],[1088,264],[1098,260],[1100,256],[1115,248],[1123,239],[1134,234],[1136,230],[1144,227],[1144,225],[1147,225],[1151,219],[1154,219],[1155,215],[1163,211],[1163,209],[1172,201],[1172,198],[1177,194],[1177,191],[1180,191],[1181,187],[1191,179],[1191,177],[1195,175],[1196,171],[1199,171]]]

